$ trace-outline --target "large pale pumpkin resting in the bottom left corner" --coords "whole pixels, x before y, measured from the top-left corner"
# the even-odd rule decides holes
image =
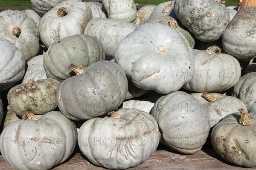
[[[9,124],[0,135],[3,158],[17,170],[49,170],[67,160],[77,142],[73,122],[58,111]]]

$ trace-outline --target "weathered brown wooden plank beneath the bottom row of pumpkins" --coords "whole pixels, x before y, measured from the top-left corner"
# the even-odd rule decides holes
[[[52,170],[105,170],[90,164],[81,154],[75,153],[69,160]],[[193,155],[183,155],[169,148],[156,150],[143,164],[128,170],[256,170],[255,167],[244,168],[221,159],[212,148],[200,150]],[[14,170],[0,155],[0,170]]]

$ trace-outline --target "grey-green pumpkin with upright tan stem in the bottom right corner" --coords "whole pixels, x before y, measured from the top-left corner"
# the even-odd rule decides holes
[[[244,116],[245,115],[245,116]],[[241,125],[248,117],[250,125]],[[211,141],[214,150],[228,162],[242,167],[256,167],[256,113],[233,113],[212,129]]]

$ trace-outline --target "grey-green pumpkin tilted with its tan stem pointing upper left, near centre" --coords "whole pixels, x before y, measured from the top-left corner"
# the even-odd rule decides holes
[[[71,65],[69,68],[79,71]],[[83,73],[61,82],[57,93],[58,108],[67,118],[85,120],[118,108],[128,92],[123,69],[112,61],[99,61]]]

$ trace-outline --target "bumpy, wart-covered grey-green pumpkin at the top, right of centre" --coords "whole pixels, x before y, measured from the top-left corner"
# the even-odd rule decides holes
[[[219,40],[230,22],[226,7],[214,0],[175,0],[174,10],[182,25],[203,42]]]

